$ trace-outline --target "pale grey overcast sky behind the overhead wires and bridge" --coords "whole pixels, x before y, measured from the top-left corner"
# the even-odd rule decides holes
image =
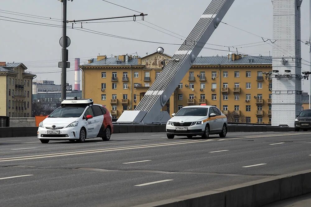
[[[182,36],[187,36],[193,28],[203,11],[206,9],[210,0],[170,0],[170,1],[151,1],[151,0],[110,0],[124,7],[129,7],[136,11],[148,14],[145,20],[165,29],[173,31]],[[101,18],[123,15],[137,14],[134,11],[114,6],[102,0],[74,0],[67,2],[67,19],[77,20],[85,18]],[[61,3],[57,0],[10,0],[1,2],[1,9],[20,13],[47,16],[61,19]],[[16,19],[44,22],[49,24],[61,25],[60,22],[34,19],[24,16],[15,16],[0,13]],[[7,19],[0,17],[0,19]],[[138,20],[139,18],[137,18]],[[11,19],[12,20],[12,19]],[[125,19],[124,19],[125,20]],[[129,18],[128,20],[131,20]],[[18,21],[18,20],[16,20]],[[272,37],[272,3],[271,0],[235,0],[232,7],[226,14],[223,22],[238,28],[250,31],[264,38]],[[139,23],[156,28],[143,21],[137,22],[114,22],[114,23],[88,23],[83,24],[83,28],[92,29],[103,33],[124,36],[148,41],[181,44],[183,40],[158,32]],[[71,25],[68,25],[71,26]],[[75,26],[81,26],[76,24]],[[39,72],[58,71],[58,61],[60,60],[61,47],[58,40],[61,37],[61,28],[46,27],[39,25],[27,25],[16,22],[0,20],[1,28],[1,50],[0,61],[23,62],[29,71],[34,74]],[[159,28],[157,28],[159,29]],[[167,31],[165,31],[167,32]],[[177,36],[175,34],[172,34]],[[91,57],[100,55],[131,54],[137,52],[139,56],[152,53],[157,47],[165,48],[165,53],[174,54],[178,45],[160,45],[155,43],[143,43],[118,38],[91,34],[75,29],[67,29],[67,36],[71,38],[69,58],[71,68],[74,69],[74,58],[80,57],[81,64]],[[301,39],[309,39],[309,1],[304,0],[301,5]],[[213,33],[208,43],[233,46],[248,43],[262,42],[262,39],[248,34],[231,26],[220,24]],[[277,43],[277,42],[276,42]],[[263,44],[253,44],[254,46]],[[226,47],[207,45],[221,50],[228,50]],[[242,46],[243,47],[243,46]],[[272,46],[268,44],[255,47],[245,47],[238,49],[250,55],[268,56],[269,51],[272,55]],[[226,55],[227,51],[215,51],[203,49],[200,55],[216,56]],[[302,58],[309,61],[308,46],[302,43]],[[53,61],[50,61],[53,60]],[[306,62],[305,62],[306,63]],[[302,70],[308,70],[307,65],[303,65]],[[67,72],[67,81],[73,83],[74,72]],[[60,82],[60,73],[37,74],[38,80],[54,80]],[[303,90],[309,91],[308,82],[303,82]]]

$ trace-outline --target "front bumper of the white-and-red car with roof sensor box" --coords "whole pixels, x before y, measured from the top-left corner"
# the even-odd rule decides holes
[[[69,140],[78,139],[80,133],[80,127],[68,127],[56,130],[50,130],[39,127],[37,137],[39,139],[50,139],[50,140]],[[48,134],[47,131],[59,131],[59,134]]]

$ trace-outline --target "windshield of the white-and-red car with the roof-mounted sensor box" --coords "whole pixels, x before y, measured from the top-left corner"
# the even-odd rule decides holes
[[[49,118],[69,118],[69,117],[80,117],[86,106],[61,106],[52,114]]]

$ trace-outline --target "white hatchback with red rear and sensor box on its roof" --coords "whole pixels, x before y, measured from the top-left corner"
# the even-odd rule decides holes
[[[84,142],[87,138],[110,139],[113,133],[112,116],[107,108],[94,104],[92,99],[64,100],[39,124],[38,138],[42,143],[50,140]]]

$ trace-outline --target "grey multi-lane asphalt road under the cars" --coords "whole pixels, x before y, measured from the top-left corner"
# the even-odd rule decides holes
[[[0,206],[133,206],[310,169],[310,132],[0,138]]]

